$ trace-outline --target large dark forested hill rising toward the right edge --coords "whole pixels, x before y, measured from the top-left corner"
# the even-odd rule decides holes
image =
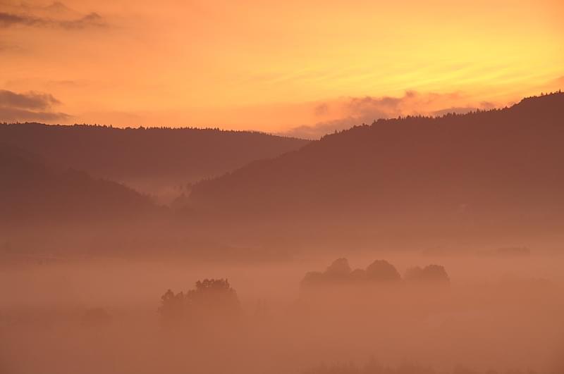
[[[244,238],[517,238],[564,223],[564,94],[378,120],[198,183],[190,204]],[[559,228],[560,227],[560,228]]]

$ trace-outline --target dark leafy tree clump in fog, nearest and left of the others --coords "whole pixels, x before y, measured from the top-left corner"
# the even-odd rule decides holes
[[[159,313],[164,323],[219,323],[239,315],[237,292],[229,285],[228,280],[198,280],[195,286],[195,289],[190,289],[185,294],[175,294],[168,289],[161,297]]]

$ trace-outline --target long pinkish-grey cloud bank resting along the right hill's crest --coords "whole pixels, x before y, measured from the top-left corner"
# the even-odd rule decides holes
[[[305,139],[319,139],[326,134],[345,130],[362,123],[372,123],[380,118],[396,118],[407,115],[442,116],[446,113],[468,113],[479,109],[491,109],[496,104],[489,101],[469,105],[471,101],[460,92],[446,94],[420,93],[406,91],[403,96],[363,96],[350,97],[348,99],[336,100],[332,103],[324,103],[324,113],[329,112],[330,107],[336,108],[340,113],[338,118],[325,120],[314,125],[301,125],[283,132],[283,135],[302,137]],[[463,104],[463,105],[459,105]],[[319,106],[314,108],[318,113]]]

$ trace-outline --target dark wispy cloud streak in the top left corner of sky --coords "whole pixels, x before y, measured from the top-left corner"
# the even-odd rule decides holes
[[[18,25],[78,30],[87,27],[106,27],[107,24],[98,13],[92,12],[81,15],[58,1],[44,7],[22,4],[6,9],[0,8],[0,28]]]

